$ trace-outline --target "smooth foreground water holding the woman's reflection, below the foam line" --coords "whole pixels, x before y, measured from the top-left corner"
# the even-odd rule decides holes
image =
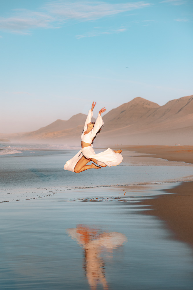
[[[0,207],[0,289],[192,289],[192,249],[134,204],[58,194]]]

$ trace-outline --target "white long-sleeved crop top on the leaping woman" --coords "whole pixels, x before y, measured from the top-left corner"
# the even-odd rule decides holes
[[[81,135],[81,140],[85,143],[92,143],[92,139],[95,137],[96,133],[98,132],[98,130],[100,129],[100,127],[104,124],[101,115],[98,114],[98,117],[96,119],[96,122],[92,128],[92,130],[88,133],[84,135],[84,132],[87,131],[87,124],[89,124],[91,122],[91,118],[93,116],[93,112],[91,110],[89,110],[86,122],[84,124],[84,131]]]

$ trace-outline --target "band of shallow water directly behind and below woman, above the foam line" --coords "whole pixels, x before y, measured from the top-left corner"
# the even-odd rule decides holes
[[[21,145],[20,147],[21,148]],[[26,148],[26,147],[25,147]],[[67,160],[77,153],[75,150],[23,150],[21,153],[0,156],[2,188],[21,189],[49,187],[88,187],[101,185],[141,184],[147,182],[175,181],[193,175],[193,165],[181,162],[181,166],[130,165],[123,162],[119,166],[88,170],[75,174],[64,171]],[[102,150],[95,150],[96,153]],[[128,158],[128,151],[122,153]],[[130,165],[130,166],[128,166]]]

